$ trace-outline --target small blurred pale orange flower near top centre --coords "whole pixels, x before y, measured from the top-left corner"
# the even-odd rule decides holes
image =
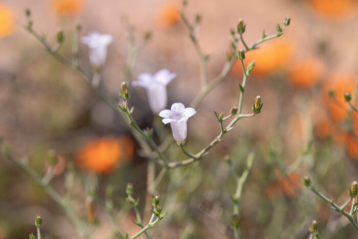
[[[167,28],[173,26],[181,19],[180,11],[182,5],[175,2],[167,3],[158,11],[158,23],[161,27]]]

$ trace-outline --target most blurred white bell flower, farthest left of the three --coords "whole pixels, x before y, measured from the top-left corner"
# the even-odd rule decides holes
[[[98,32],[90,32],[87,36],[81,37],[81,42],[89,47],[89,61],[92,66],[103,66],[107,58],[107,47],[112,40],[111,35]]]

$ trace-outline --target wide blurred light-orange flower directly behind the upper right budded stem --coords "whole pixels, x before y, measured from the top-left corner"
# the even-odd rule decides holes
[[[256,64],[251,74],[257,76],[270,75],[282,70],[291,58],[294,46],[288,40],[276,40],[269,44],[260,46],[259,49],[245,53],[245,65],[255,60]],[[239,60],[233,66],[233,73],[242,74],[241,62]]]

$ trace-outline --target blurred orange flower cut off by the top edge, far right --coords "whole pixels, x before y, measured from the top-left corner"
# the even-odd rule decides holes
[[[327,18],[351,18],[356,15],[354,0],[309,0],[309,5],[318,15]]]

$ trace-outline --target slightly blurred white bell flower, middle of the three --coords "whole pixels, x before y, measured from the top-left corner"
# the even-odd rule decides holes
[[[158,113],[167,106],[167,84],[175,77],[175,73],[162,69],[154,75],[150,73],[140,74],[138,81],[133,81],[132,85],[142,86],[147,90],[149,106],[152,112]]]

